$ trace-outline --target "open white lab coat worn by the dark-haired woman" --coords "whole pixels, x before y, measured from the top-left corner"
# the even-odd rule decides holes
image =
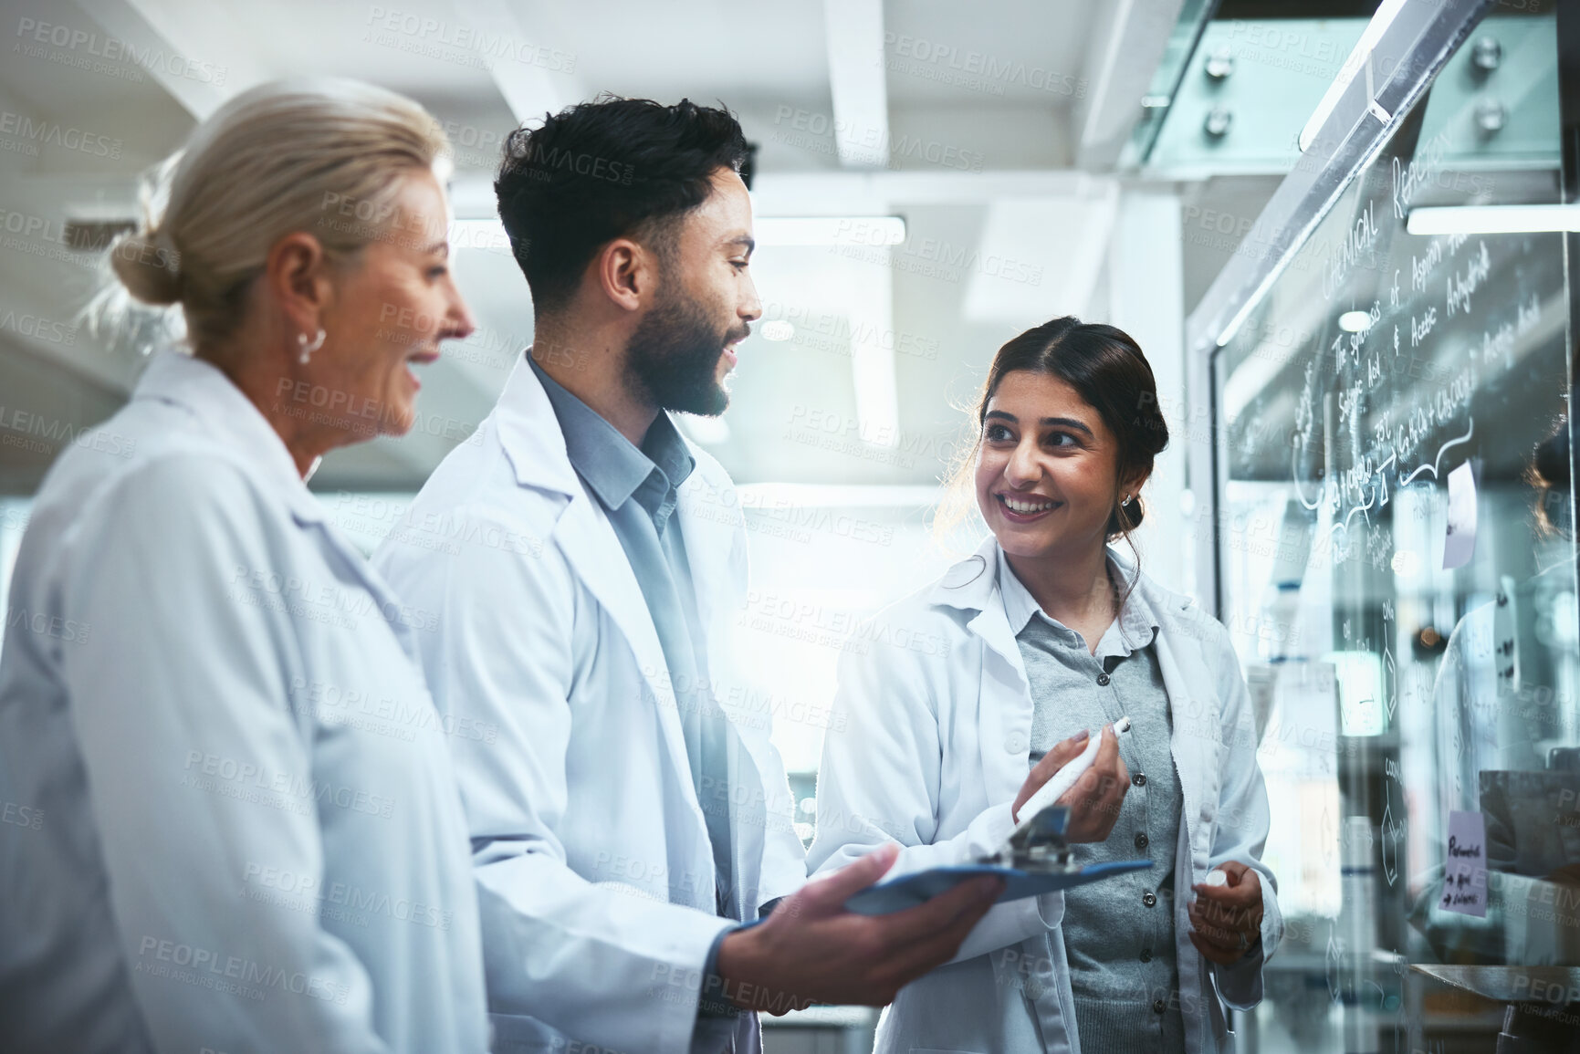
[[[897,877],[980,856],[1010,834],[1010,807],[1030,771],[1032,695],[995,572],[989,537],[877,615],[861,634],[869,646],[842,659],[818,773],[814,872],[897,841]],[[1220,997],[1236,1008],[1258,1003],[1264,956],[1283,934],[1273,877],[1259,863],[1267,793],[1228,632],[1146,575],[1136,588],[1161,623],[1157,654],[1183,801],[1174,888],[1187,1049],[1210,1054],[1231,1049]],[[1185,918],[1190,886],[1226,860],[1261,872],[1266,912],[1261,951],[1229,969],[1201,958]],[[995,905],[953,962],[901,989],[877,1049],[1078,1052],[1062,918],[1059,893]]]

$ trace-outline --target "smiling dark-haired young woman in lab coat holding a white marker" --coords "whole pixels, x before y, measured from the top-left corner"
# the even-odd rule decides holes
[[[899,842],[901,875],[992,853],[1101,728],[1060,798],[1066,838],[1078,863],[1153,866],[999,904],[901,991],[878,1049],[1229,1049],[1226,1007],[1261,1000],[1283,923],[1229,635],[1115,547],[1168,444],[1152,368],[1123,332],[1059,318],[999,349],[976,423],[956,479],[992,537],[847,653],[809,863]]]

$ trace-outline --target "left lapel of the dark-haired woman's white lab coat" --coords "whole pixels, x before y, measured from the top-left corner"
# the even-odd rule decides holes
[[[999,593],[999,542],[986,542],[954,564],[934,588],[932,604],[973,612],[967,629],[983,642],[978,749],[988,800],[1014,798],[1025,782],[1032,746],[1032,686]],[[1014,760],[1019,763],[1011,763]]]

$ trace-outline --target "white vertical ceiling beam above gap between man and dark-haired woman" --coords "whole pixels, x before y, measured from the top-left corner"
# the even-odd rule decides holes
[[[834,144],[845,168],[888,168],[883,0],[823,0]]]

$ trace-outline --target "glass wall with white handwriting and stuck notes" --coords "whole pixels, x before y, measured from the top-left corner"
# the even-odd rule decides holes
[[[1422,212],[1561,201],[1556,19],[1498,11],[1212,360],[1289,921],[1255,1049],[1572,1049],[1580,1021],[1564,235]]]

